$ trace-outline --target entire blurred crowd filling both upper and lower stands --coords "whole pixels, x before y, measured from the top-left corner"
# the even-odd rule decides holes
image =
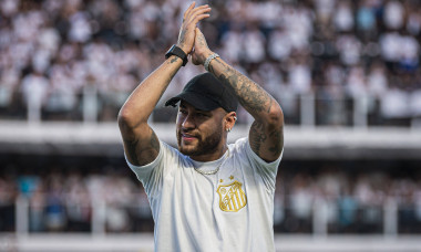
[[[0,117],[24,118],[31,104],[47,119],[80,119],[84,106],[97,111],[101,120],[115,120],[131,91],[176,43],[188,3],[0,1]],[[206,3],[212,17],[201,29],[209,48],[269,91],[288,124],[299,113],[297,97],[308,95],[316,97],[320,124],[347,124],[349,101],[363,101],[378,124],[421,118],[418,0]],[[201,71],[188,64],[163,101]],[[97,104],[84,101],[86,94],[95,94]],[[243,109],[238,118],[250,119]],[[126,167],[48,170],[0,170],[0,231],[14,230],[20,199],[28,199],[33,232],[91,231],[94,217],[105,220],[110,232],[153,230],[147,198],[134,176],[122,172]],[[399,207],[400,231],[421,232],[419,172],[280,172],[277,232],[311,232],[314,209],[320,203],[332,232],[381,232],[383,206],[390,200]]]

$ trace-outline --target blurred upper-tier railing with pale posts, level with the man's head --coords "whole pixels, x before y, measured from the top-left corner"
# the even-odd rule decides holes
[[[63,95],[71,96],[69,98],[71,102],[60,102],[62,99],[65,101],[62,97]],[[18,101],[14,105],[9,104],[7,106],[3,104],[3,108],[0,109],[0,118],[8,119],[8,117],[12,116],[16,119],[27,120],[29,124],[55,119],[84,122],[86,124],[115,122],[119,109],[129,95],[130,93],[124,92],[99,91],[93,85],[86,85],[80,93],[75,94],[52,93],[47,102],[41,101],[39,96],[30,96],[28,101]],[[19,93],[13,96],[20,97],[21,95]],[[277,95],[274,96],[277,97]],[[421,125],[421,115],[417,114],[415,108],[410,108],[409,106],[407,115],[396,118],[388,117],[382,114],[382,109],[380,108],[381,101],[378,97],[369,95],[332,98],[311,92],[301,95],[288,94],[287,96],[288,99],[279,101],[279,103],[284,108],[288,125],[299,125],[302,127],[351,126],[360,128],[382,125],[408,127],[419,127]],[[10,112],[11,109],[12,112]],[[165,108],[162,104],[158,104],[155,112],[157,111],[163,115],[153,115],[151,118],[154,123],[173,122],[172,119],[175,116],[173,108]],[[246,113],[239,112],[239,114],[238,122],[240,124],[249,124],[247,122],[249,117],[246,116]]]

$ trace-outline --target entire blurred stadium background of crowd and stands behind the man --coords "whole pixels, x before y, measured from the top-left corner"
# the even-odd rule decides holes
[[[153,251],[116,125],[182,0],[0,1],[0,251]],[[209,48],[283,106],[279,251],[421,251],[421,4],[213,0]],[[175,143],[163,102],[151,118]],[[253,118],[240,107],[230,141]],[[198,207],[198,206],[196,206]]]

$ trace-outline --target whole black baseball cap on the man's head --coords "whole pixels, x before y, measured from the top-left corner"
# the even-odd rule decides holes
[[[165,106],[175,107],[182,99],[201,111],[222,107],[226,112],[235,112],[238,107],[234,93],[210,73],[192,78],[182,93],[166,101]]]

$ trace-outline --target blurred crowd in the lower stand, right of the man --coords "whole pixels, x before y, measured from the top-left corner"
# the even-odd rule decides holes
[[[275,231],[311,232],[326,221],[330,233],[421,232],[421,172],[381,164],[325,164],[279,170]],[[319,222],[320,223],[320,222]]]

